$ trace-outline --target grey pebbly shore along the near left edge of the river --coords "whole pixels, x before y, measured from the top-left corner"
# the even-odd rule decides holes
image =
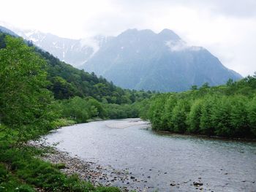
[[[46,147],[42,143],[30,143],[29,145],[39,148]],[[48,153],[39,158],[56,164],[64,174],[77,174],[81,180],[90,181],[95,186],[116,186],[124,192],[152,190],[146,180],[138,180],[128,169],[117,170],[112,166],[101,166],[95,162],[83,161],[78,157],[72,157],[67,152],[59,151],[55,147],[50,147]]]

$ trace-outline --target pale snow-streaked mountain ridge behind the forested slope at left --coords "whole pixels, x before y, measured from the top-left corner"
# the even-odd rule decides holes
[[[96,36],[86,39],[67,39],[37,30],[12,28],[20,37],[53,54],[61,61],[79,67],[84,64],[110,37]]]

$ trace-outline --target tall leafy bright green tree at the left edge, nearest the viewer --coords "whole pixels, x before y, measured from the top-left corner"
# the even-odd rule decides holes
[[[53,98],[46,89],[45,61],[22,39],[7,36],[5,41],[7,46],[0,50],[1,123],[25,139],[32,127],[50,128],[55,118],[49,110]]]

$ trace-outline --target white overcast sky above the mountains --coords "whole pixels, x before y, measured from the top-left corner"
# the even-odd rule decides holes
[[[243,76],[256,72],[256,0],[1,0],[0,21],[75,39],[170,28]]]

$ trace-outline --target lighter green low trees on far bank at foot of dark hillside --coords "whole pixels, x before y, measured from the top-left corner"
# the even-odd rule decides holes
[[[102,103],[93,97],[64,99],[53,102],[52,109],[59,113],[59,118],[74,120],[83,123],[94,118],[138,118],[138,109],[135,104],[108,104]]]

